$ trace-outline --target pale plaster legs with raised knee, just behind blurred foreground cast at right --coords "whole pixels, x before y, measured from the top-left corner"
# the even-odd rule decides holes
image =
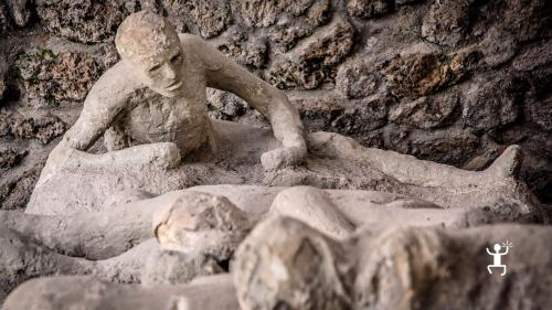
[[[274,199],[270,215],[300,220],[335,238],[349,237],[362,227],[436,226],[464,228],[490,223],[543,223],[540,213],[524,206],[497,202],[485,207],[444,209],[431,202],[399,194],[319,190],[295,186]]]

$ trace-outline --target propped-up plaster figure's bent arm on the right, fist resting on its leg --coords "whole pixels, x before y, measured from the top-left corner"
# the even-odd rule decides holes
[[[253,75],[203,40],[193,35],[182,35],[181,40],[184,45],[197,46],[209,87],[234,93],[270,121],[282,148],[262,156],[265,169],[291,165],[305,159],[307,146],[299,114],[282,90]]]

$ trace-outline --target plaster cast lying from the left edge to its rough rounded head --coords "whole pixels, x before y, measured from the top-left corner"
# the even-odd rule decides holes
[[[208,255],[217,261],[227,260],[256,218],[224,196],[190,190],[96,213],[34,215],[0,211],[1,227],[18,232],[57,254],[91,260],[121,255],[153,238],[162,232],[158,229],[159,223],[166,221],[188,225],[189,237],[198,239],[181,252],[194,249],[197,255]],[[0,260],[0,268],[1,265]]]

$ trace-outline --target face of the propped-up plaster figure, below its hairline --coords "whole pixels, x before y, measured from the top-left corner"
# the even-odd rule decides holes
[[[161,50],[162,49],[162,50]],[[155,92],[174,97],[182,94],[182,47],[178,44],[160,47],[153,57],[131,60],[130,63],[142,82]]]

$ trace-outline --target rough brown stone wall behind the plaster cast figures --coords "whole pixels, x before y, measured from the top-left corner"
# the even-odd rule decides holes
[[[519,143],[552,201],[550,0],[0,0],[1,209],[24,206],[141,9],[286,89],[310,131],[471,170]],[[266,126],[209,97],[213,117]]]

